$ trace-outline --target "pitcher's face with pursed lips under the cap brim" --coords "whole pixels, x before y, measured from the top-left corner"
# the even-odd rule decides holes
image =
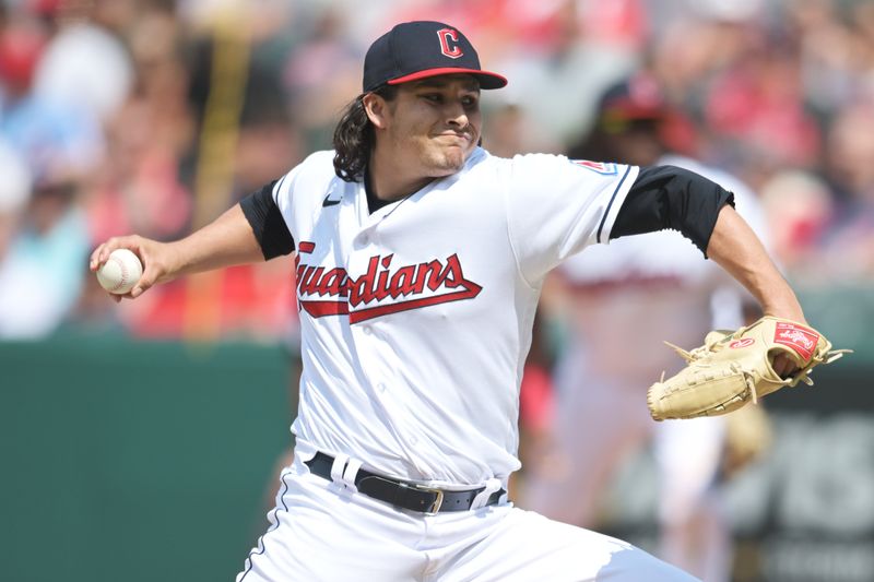
[[[387,145],[408,167],[423,177],[452,175],[480,142],[480,84],[465,74],[404,83],[386,120]]]

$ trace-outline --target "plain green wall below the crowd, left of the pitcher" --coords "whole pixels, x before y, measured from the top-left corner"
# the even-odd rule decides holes
[[[0,344],[0,579],[234,580],[291,446],[274,346]]]

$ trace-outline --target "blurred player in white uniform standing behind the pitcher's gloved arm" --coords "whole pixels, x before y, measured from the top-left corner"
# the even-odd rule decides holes
[[[755,195],[736,178],[668,153],[671,116],[653,79],[633,76],[601,99],[599,126],[570,157],[669,164],[734,192],[739,213],[763,238]],[[587,249],[556,271],[568,345],[556,364],[551,444],[555,461],[532,467],[522,506],[591,527],[619,464],[654,439],[660,475],[660,557],[718,582],[729,580],[731,537],[712,491],[723,458],[725,417],[654,423],[646,390],[684,361],[669,341],[699,345],[711,329],[744,323],[747,295],[672,230]],[[752,301],[752,297],[748,297]],[[534,463],[536,465],[536,463]],[[556,470],[556,467],[559,467]]]

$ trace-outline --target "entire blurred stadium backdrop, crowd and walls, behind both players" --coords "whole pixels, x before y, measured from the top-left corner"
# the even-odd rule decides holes
[[[486,147],[562,152],[604,87],[665,86],[681,147],[744,178],[808,319],[857,354],[769,396],[725,491],[735,580],[874,580],[874,2],[5,0],[0,11],[3,579],[228,580],[291,446],[290,260],[108,300],[91,248],[172,239],[327,147],[391,23],[448,21],[507,74]],[[604,527],[654,535],[648,453]]]

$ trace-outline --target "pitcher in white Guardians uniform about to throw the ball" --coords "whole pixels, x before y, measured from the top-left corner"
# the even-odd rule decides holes
[[[128,298],[297,253],[294,462],[238,581],[692,579],[507,498],[544,276],[590,245],[674,228],[766,313],[804,314],[716,183],[674,167],[489,155],[481,92],[506,83],[458,28],[399,24],[367,51],[333,151],[188,238],[94,251],[93,270],[116,248],[140,257]]]

